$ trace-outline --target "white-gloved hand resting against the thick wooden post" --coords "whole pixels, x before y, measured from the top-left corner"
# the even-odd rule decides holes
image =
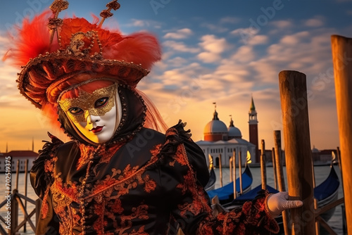
[[[270,194],[266,201],[268,212],[272,217],[279,215],[282,210],[287,210],[290,208],[299,208],[303,205],[302,201],[289,201],[289,193],[279,192],[275,194]]]

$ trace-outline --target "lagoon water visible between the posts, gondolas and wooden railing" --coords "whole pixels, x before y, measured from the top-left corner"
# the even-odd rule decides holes
[[[337,174],[340,177],[340,182],[341,182],[341,173],[339,170],[338,166],[334,166],[335,170],[337,172]],[[244,170],[244,169],[242,169]],[[253,184],[252,184],[252,188],[254,186],[258,186],[259,184],[261,184],[261,180],[260,180],[260,168],[259,167],[251,167],[251,172],[253,174]],[[217,177],[217,182],[215,184],[215,188],[220,187],[220,174],[219,174],[219,169],[215,169],[215,173],[216,173],[216,177]],[[237,177],[239,174],[239,170],[237,169]],[[323,182],[327,175],[329,174],[329,166],[319,166],[319,167],[315,167],[315,182],[316,185],[320,184],[321,182]],[[272,173],[272,167],[267,167],[267,183],[274,187],[274,177],[273,177],[273,173]],[[284,175],[286,175],[286,169],[284,168]],[[27,177],[27,196],[29,198],[32,198],[33,200],[37,199],[37,195],[34,193],[32,186],[30,186],[30,177],[28,175]],[[229,168],[223,168],[222,169],[222,183],[223,185],[227,184],[228,182],[230,182],[230,171]],[[285,186],[287,187],[287,181],[285,179]],[[12,174],[12,189],[15,189],[15,174]],[[19,175],[19,180],[18,180],[18,189],[19,192],[21,194],[25,194],[25,174],[21,173]],[[5,193],[5,174],[0,174],[0,192],[2,192],[4,195],[7,194]],[[340,184],[339,187],[339,198],[341,198],[343,196],[342,193],[342,186]],[[1,196],[1,200],[0,203],[2,202],[2,200],[4,200],[4,197]],[[27,203],[27,212],[30,213],[32,210],[34,210],[34,205],[32,205],[31,203]],[[0,214],[2,216],[6,215],[6,209],[5,207],[0,208]],[[19,223],[23,220],[23,214],[20,213],[20,217],[18,219]],[[32,217],[32,222],[35,224],[35,215]],[[4,223],[0,222],[1,226],[4,227]],[[338,205],[333,217],[329,220],[328,222],[329,226],[332,227],[332,229],[334,229],[334,231],[339,234],[342,235],[343,231],[342,231],[342,210],[341,210],[341,205]],[[32,231],[32,229],[30,228],[30,225],[27,224],[27,232],[23,233],[23,229],[20,230],[21,234],[26,234],[26,235],[32,235],[34,234],[34,232]]]

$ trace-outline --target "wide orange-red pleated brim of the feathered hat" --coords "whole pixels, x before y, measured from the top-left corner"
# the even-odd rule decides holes
[[[99,56],[77,57],[57,51],[31,59],[18,74],[18,89],[37,108],[56,103],[61,92],[89,79],[108,77],[134,88],[149,71],[142,65],[101,59]],[[79,76],[79,75],[89,76]]]

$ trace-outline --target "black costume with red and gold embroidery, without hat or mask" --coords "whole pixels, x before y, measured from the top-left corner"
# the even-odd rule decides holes
[[[182,122],[165,135],[142,127],[142,99],[127,87],[120,90],[134,105],[127,103],[127,118],[111,142],[64,144],[51,136],[45,144],[31,171],[43,199],[37,234],[177,234],[178,225],[184,234],[278,231],[265,212],[265,193],[213,217],[203,190],[206,159],[189,131]]]

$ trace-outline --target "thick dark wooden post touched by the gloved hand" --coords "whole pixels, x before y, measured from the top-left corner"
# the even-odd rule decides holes
[[[306,75],[279,72],[279,89],[284,127],[287,183],[290,199],[303,201],[291,209],[292,234],[315,234],[312,151],[307,102]]]

